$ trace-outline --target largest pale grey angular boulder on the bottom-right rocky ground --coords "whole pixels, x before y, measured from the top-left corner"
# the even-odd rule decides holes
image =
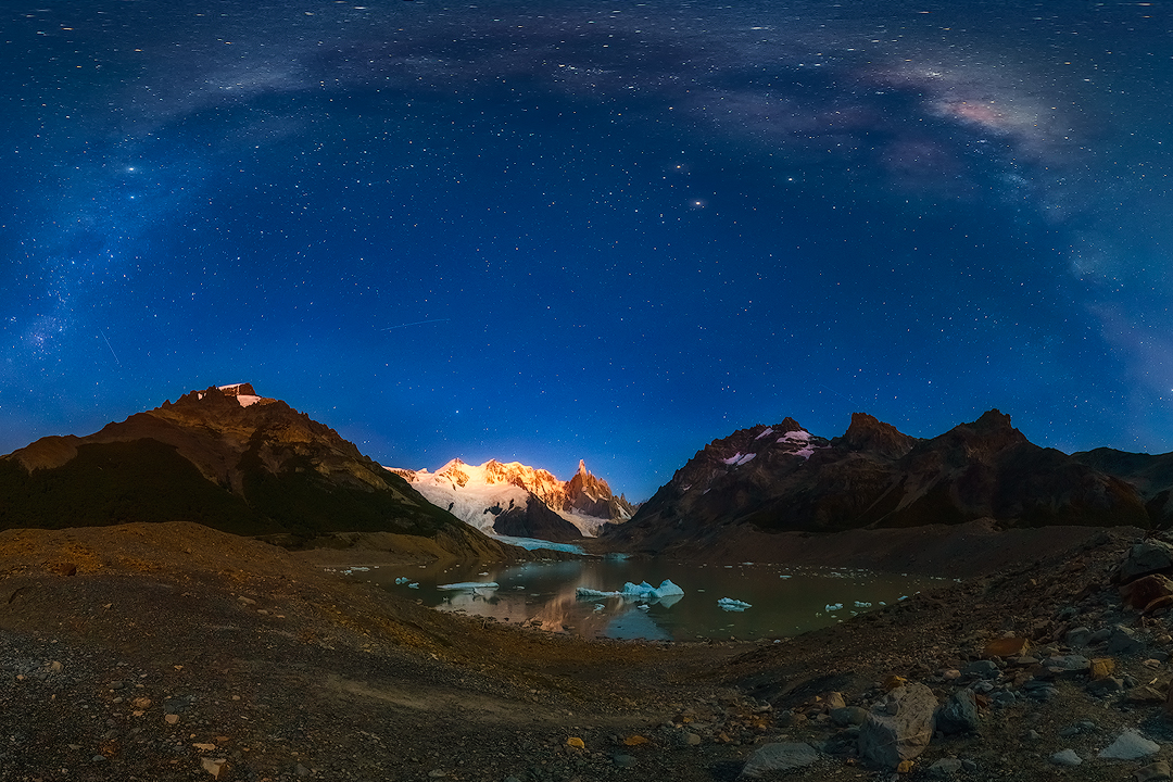
[[[872,707],[860,727],[860,757],[872,766],[894,769],[929,746],[937,699],[921,684],[899,687]]]

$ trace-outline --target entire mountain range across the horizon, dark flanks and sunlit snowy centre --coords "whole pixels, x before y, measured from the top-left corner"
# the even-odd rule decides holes
[[[1173,454],[1067,455],[1031,443],[998,410],[931,438],[856,413],[830,440],[789,417],[714,440],[637,510],[582,462],[569,481],[495,460],[385,468],[240,383],[0,457],[0,529],[189,521],[287,545],[379,532],[506,556],[487,532],[599,536],[603,548],[663,552],[737,529],[809,535],[979,519],[1160,529],[1173,523],[1171,492]]]

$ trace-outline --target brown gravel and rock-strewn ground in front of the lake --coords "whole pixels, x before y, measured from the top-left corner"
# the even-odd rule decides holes
[[[4,780],[1160,780],[1173,545],[777,641],[441,614],[196,524],[0,533]]]

